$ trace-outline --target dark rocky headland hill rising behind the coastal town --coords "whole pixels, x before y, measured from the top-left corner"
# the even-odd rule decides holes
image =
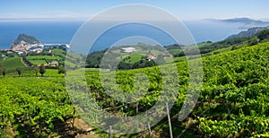
[[[29,36],[27,34],[20,34],[17,39],[13,41],[14,45],[18,44],[39,44],[39,40],[35,37]]]

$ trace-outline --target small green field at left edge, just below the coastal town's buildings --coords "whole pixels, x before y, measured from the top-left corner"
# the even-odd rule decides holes
[[[0,62],[4,65],[5,70],[15,70],[16,68],[22,68],[26,65],[22,64],[22,57],[5,57],[4,60]]]

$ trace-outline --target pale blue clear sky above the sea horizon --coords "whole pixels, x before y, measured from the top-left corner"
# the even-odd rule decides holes
[[[149,4],[179,20],[247,17],[269,21],[268,0],[0,0],[0,20],[86,20],[122,4]]]

